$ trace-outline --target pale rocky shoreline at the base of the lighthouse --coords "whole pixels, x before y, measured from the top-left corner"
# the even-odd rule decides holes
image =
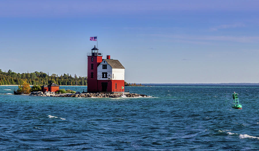
[[[119,97],[149,97],[144,94],[137,93],[55,93],[55,92],[31,92],[32,96],[45,96],[45,97],[74,97],[74,98],[119,98]]]

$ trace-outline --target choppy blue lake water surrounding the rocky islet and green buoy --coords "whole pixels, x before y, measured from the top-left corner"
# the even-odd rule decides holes
[[[0,150],[259,150],[259,85],[126,87],[150,98],[4,94],[13,89],[0,86]]]

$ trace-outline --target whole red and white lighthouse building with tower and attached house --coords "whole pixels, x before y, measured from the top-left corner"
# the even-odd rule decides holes
[[[109,55],[102,56],[95,46],[87,53],[87,92],[124,92],[124,66]]]

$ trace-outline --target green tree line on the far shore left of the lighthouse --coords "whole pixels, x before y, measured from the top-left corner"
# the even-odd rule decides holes
[[[56,83],[58,85],[87,85],[87,77],[74,77],[71,74],[63,74],[58,76],[57,74],[46,74],[44,72],[32,72],[32,73],[16,73],[12,70],[3,72],[0,69],[0,85],[21,85],[23,81],[27,81],[30,85],[48,85]]]

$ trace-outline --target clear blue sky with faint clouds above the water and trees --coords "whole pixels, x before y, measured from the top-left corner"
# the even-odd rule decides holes
[[[0,1],[0,69],[87,76],[96,44],[130,83],[259,83],[259,2]]]

